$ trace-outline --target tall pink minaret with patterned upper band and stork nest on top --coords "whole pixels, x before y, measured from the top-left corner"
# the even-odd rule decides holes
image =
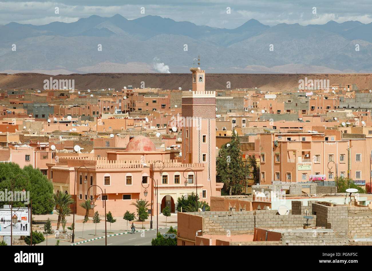
[[[203,163],[207,173],[204,178],[212,181],[212,187],[215,187],[216,94],[214,91],[205,91],[204,70],[193,67],[190,71],[192,91],[182,92],[182,162]],[[215,195],[215,191],[211,192],[209,195]]]

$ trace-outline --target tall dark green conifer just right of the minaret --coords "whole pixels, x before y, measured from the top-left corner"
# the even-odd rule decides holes
[[[227,146],[227,144],[230,144]],[[223,182],[229,195],[238,195],[244,189],[244,168],[240,140],[232,129],[231,141],[222,145],[216,159],[216,181]]]

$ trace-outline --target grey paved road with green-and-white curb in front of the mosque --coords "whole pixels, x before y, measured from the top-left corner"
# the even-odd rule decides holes
[[[166,233],[169,229],[160,229],[160,233]],[[142,235],[142,236],[141,236]],[[156,237],[156,229],[135,234],[124,234],[107,238],[107,245],[110,246],[151,246],[151,240]],[[98,239],[79,244],[78,246],[104,246],[105,239]]]

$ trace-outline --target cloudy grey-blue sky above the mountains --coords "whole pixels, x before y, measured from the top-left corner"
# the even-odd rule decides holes
[[[55,13],[56,7],[59,14]],[[129,20],[158,15],[196,25],[232,29],[250,19],[269,26],[278,23],[324,24],[330,20],[338,23],[349,20],[371,23],[371,10],[371,0],[0,0],[0,24],[68,23],[91,15],[112,17],[118,13]]]

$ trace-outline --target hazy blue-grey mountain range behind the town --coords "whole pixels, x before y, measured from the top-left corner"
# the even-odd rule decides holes
[[[359,21],[270,27],[250,19],[226,29],[92,15],[38,26],[11,22],[0,25],[0,36],[2,73],[187,73],[198,55],[208,73],[372,71],[372,23]]]

